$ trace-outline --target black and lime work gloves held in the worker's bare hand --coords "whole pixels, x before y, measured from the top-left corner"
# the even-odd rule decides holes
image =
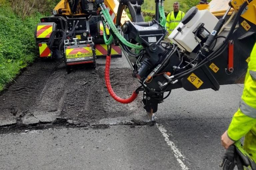
[[[244,170],[244,166],[250,166],[252,170],[256,170],[256,164],[251,156],[242,148],[240,141],[235,142],[229,146],[224,156],[220,167],[223,166],[223,170],[233,170],[237,166],[238,170]]]

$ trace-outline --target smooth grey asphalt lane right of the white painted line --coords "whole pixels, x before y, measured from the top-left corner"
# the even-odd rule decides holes
[[[243,84],[222,85],[219,91],[176,89],[159,105],[158,124],[170,133],[189,169],[220,169],[225,152],[220,136],[238,109],[242,91]]]

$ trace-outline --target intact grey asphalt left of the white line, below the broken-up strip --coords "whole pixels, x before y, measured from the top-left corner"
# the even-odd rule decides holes
[[[179,167],[155,126],[4,134],[1,135],[0,153],[0,169],[153,170]]]

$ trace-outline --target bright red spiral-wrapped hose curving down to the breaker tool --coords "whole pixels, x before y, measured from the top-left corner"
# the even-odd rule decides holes
[[[118,97],[115,94],[115,92],[113,91],[111,84],[110,84],[110,80],[109,80],[110,60],[111,60],[111,56],[107,55],[106,67],[105,67],[105,82],[106,82],[106,86],[107,86],[110,96],[113,97],[116,101],[123,103],[123,104],[133,102],[136,99],[136,97],[138,96],[138,93],[136,93],[135,91],[133,92],[132,96],[128,99],[122,99],[122,98]]]

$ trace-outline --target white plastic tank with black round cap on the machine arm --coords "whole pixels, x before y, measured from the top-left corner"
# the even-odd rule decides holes
[[[194,29],[200,23],[204,23],[204,28],[211,33],[217,22],[218,19],[209,10],[198,10],[196,7],[192,7],[168,38],[179,48],[192,52],[198,45],[194,38],[195,35],[192,33]],[[177,30],[179,27],[181,31]],[[200,42],[199,39],[198,41]]]

